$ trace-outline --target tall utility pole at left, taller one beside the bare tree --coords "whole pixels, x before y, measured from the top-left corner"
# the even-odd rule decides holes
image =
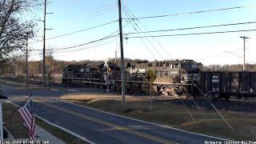
[[[46,0],[43,14],[42,78],[44,85],[46,85]]]

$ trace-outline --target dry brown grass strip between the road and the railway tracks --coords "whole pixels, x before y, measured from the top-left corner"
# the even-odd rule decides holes
[[[172,126],[182,130],[189,130],[200,134],[208,134],[232,140],[256,141],[256,114],[246,114],[221,110],[221,114],[234,131],[222,120],[216,111],[203,110],[203,114],[196,108],[189,108],[196,122],[192,120],[184,106],[170,102],[153,102],[153,115],[150,114],[149,100],[142,100],[126,96],[126,109],[121,109],[121,96],[107,94],[78,93],[61,97],[81,105],[99,110],[106,110],[115,114],[138,118],[147,122],[155,122],[165,126]]]

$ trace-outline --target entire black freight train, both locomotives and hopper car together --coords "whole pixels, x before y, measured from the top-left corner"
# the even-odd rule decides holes
[[[251,98],[256,96],[256,72],[202,71],[202,64],[183,59],[163,62],[126,63],[126,90],[164,95],[186,95],[209,99]],[[144,78],[151,70],[157,78],[149,86]],[[62,74],[66,85],[109,87],[121,90],[121,66],[68,65]]]

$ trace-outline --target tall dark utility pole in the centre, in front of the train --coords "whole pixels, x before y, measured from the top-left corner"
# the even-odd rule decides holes
[[[123,44],[122,44],[122,12],[121,12],[121,0],[118,0],[118,12],[119,12],[119,32],[120,32],[120,53],[121,53],[121,71],[122,71],[122,109],[125,108],[125,80],[126,80],[126,74],[125,74],[125,64],[124,64],[124,58],[123,58]]]

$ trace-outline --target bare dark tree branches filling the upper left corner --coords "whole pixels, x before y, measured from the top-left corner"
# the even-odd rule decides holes
[[[0,1],[0,62],[21,50],[26,38],[34,36],[34,22],[22,21],[22,14],[30,14],[39,5],[38,0]]]

